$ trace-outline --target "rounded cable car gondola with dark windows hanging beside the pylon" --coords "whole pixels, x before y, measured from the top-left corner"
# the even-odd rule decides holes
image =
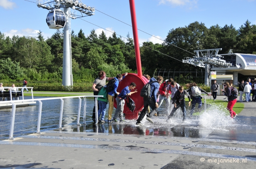
[[[63,11],[54,9],[48,13],[46,23],[50,29],[63,28],[66,24],[66,15]]]

